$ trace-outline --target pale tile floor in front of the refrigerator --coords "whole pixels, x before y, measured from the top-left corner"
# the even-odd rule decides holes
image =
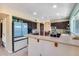
[[[16,53],[8,53],[4,47],[0,47],[0,56],[27,56],[27,48],[24,48]]]

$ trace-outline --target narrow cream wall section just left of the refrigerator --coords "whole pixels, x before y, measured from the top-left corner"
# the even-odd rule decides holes
[[[2,41],[6,50],[12,53],[12,18],[11,16],[6,16],[3,18],[3,34]]]

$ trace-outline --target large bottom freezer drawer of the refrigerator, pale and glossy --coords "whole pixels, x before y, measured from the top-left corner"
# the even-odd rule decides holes
[[[14,51],[18,51],[25,46],[27,46],[27,39],[14,42]]]

